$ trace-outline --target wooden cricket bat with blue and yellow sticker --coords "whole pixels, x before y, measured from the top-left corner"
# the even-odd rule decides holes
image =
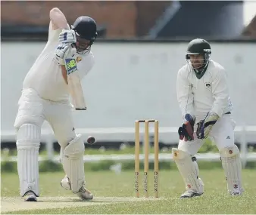
[[[68,29],[70,30],[69,26]],[[70,49],[72,49],[72,45],[70,46]],[[72,98],[72,103],[76,110],[86,110],[86,100],[83,95],[83,88],[76,66],[75,55],[73,55],[73,57],[71,57],[71,55],[68,56],[70,57],[64,59],[65,66],[61,66],[61,69],[65,69],[67,72],[67,86]]]

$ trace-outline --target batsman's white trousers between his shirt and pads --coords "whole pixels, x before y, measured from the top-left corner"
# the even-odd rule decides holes
[[[26,89],[22,92],[18,106],[14,122],[17,130],[23,124],[36,124],[42,127],[43,122],[48,121],[56,140],[63,148],[76,136],[69,101],[44,100],[33,89]]]

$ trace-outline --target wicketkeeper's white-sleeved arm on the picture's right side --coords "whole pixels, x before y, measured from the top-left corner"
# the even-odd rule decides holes
[[[218,69],[217,75],[212,82],[212,93],[214,96],[214,105],[211,112],[215,112],[217,115],[221,116],[226,106],[229,105],[226,71],[223,68]]]

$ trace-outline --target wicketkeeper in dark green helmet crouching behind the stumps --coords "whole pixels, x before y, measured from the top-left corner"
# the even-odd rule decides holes
[[[173,148],[186,191],[180,198],[192,198],[204,193],[195,154],[211,138],[220,152],[227,190],[230,195],[241,195],[242,165],[239,149],[234,143],[236,122],[232,118],[233,105],[229,98],[226,71],[210,59],[211,45],[195,38],[186,51],[187,63],[176,79],[176,94],[183,116],[179,128],[178,149]]]

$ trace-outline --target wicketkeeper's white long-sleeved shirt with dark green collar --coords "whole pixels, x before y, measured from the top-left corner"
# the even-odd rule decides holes
[[[214,60],[200,79],[189,64],[183,66],[177,75],[176,94],[182,115],[194,114],[196,121],[204,119],[210,110],[221,116],[233,109],[226,71]]]

